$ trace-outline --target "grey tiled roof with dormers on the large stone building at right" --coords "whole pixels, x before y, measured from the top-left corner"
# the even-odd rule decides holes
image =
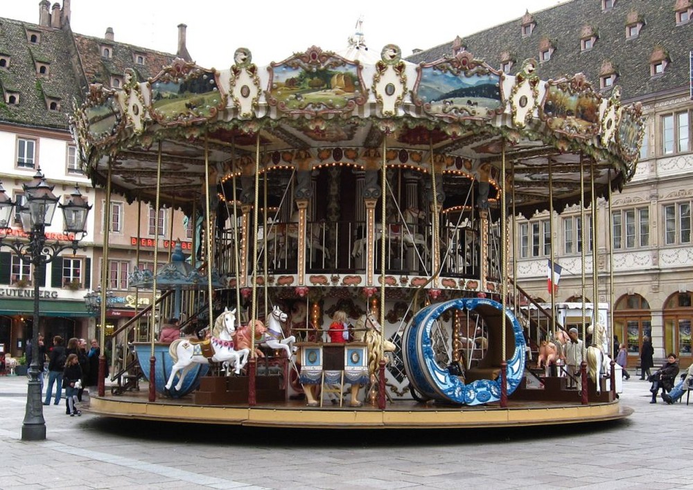
[[[689,51],[693,49],[693,21],[676,25],[676,0],[616,0],[611,10],[602,11],[602,0],[572,0],[533,12],[536,25],[523,37],[521,19],[466,36],[462,44],[475,57],[500,69],[500,55],[507,51],[514,59],[510,73],[516,74],[523,60],[538,60],[539,44],[548,39],[555,51],[551,59],[538,64],[543,80],[582,72],[599,90],[602,63],[610,60],[617,67],[615,84],[622,88],[624,100],[651,93],[681,89],[690,81]],[[464,8],[461,8],[464,10]],[[626,39],[626,19],[637,12],[644,19],[638,37]],[[589,26],[598,38],[594,47],[581,51],[581,33]],[[665,73],[650,75],[650,56],[656,48],[669,54]],[[453,41],[421,51],[407,60],[414,63],[438,60],[453,53]]]

